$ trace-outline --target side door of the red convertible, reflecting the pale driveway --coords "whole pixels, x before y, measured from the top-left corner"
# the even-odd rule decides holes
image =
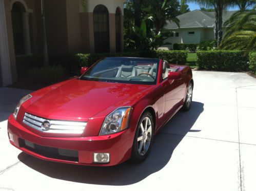
[[[165,68],[167,67],[167,68]],[[165,116],[169,119],[174,112],[180,107],[184,98],[184,79],[168,80],[169,63],[164,61],[162,88],[165,97]],[[166,71],[167,70],[167,71]]]

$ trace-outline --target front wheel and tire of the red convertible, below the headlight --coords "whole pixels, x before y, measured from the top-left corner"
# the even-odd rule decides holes
[[[145,126],[147,121],[147,131],[145,132]],[[142,126],[144,129],[142,130]],[[150,125],[151,124],[151,125]],[[152,140],[153,140],[153,133],[154,133],[154,120],[152,115],[149,112],[145,112],[137,125],[133,145],[132,145],[132,153],[131,153],[131,160],[135,163],[139,163],[144,161],[151,150]]]

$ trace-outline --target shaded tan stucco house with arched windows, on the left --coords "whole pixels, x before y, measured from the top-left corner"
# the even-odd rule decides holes
[[[45,0],[49,54],[123,51],[125,0]],[[41,0],[0,0],[0,87],[17,80],[15,56],[42,54]]]

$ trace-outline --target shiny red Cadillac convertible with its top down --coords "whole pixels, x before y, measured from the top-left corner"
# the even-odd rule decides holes
[[[194,83],[188,66],[108,57],[81,72],[19,101],[8,119],[13,146],[70,164],[141,162],[154,135],[181,108],[191,107]]]

